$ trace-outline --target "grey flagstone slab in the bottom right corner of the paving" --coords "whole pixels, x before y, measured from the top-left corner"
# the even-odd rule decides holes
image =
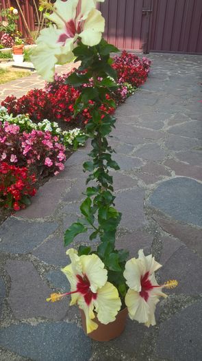
[[[172,361],[201,361],[202,302],[183,309],[160,325],[159,358]]]

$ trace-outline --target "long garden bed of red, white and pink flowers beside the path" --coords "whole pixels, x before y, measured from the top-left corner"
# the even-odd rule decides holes
[[[147,58],[141,60],[135,54],[127,52],[114,57],[113,67],[118,75],[118,86],[109,88],[110,95],[106,96],[105,105],[100,106],[103,116],[114,113],[116,107],[147,80],[150,65]],[[62,171],[64,162],[73,149],[84,144],[88,138],[84,134],[84,127],[91,118],[94,101],[88,100],[88,107],[77,112],[76,116],[74,111],[81,89],[91,85],[72,87],[66,81],[70,74],[71,72],[62,76],[56,74],[53,83],[47,83],[45,89],[31,90],[18,99],[8,96],[1,103],[0,201],[1,206],[9,210],[1,212],[0,221],[14,210],[25,208],[31,195],[34,195],[32,190],[27,192],[21,182],[16,182],[13,175],[10,175],[16,172],[15,168],[27,168],[29,175],[34,172],[36,181],[29,184],[28,188],[37,189],[49,177]],[[79,76],[85,72],[77,70],[77,74]],[[99,78],[98,81],[101,82],[102,79]],[[109,84],[110,81],[112,80],[109,78]],[[12,166],[13,169],[9,168],[9,173],[3,170],[2,164],[4,168],[8,164],[7,167]]]

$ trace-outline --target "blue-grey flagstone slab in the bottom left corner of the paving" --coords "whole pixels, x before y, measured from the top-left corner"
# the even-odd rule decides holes
[[[34,361],[89,361],[91,341],[73,323],[27,323],[0,329],[0,345]]]

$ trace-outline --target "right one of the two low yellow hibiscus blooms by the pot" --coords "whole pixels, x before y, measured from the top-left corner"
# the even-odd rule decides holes
[[[157,263],[151,254],[144,256],[143,250],[139,250],[138,259],[127,261],[123,273],[129,286],[125,296],[129,317],[131,320],[143,322],[147,327],[155,325],[155,306],[160,296],[167,297],[162,288],[177,286],[175,280],[164,285],[157,284],[154,272],[160,267],[162,265]]]

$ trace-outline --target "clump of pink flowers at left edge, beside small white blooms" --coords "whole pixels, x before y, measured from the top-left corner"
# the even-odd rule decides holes
[[[17,166],[34,165],[40,175],[58,174],[64,169],[65,147],[49,131],[20,133],[18,125],[0,124],[0,161]]]

